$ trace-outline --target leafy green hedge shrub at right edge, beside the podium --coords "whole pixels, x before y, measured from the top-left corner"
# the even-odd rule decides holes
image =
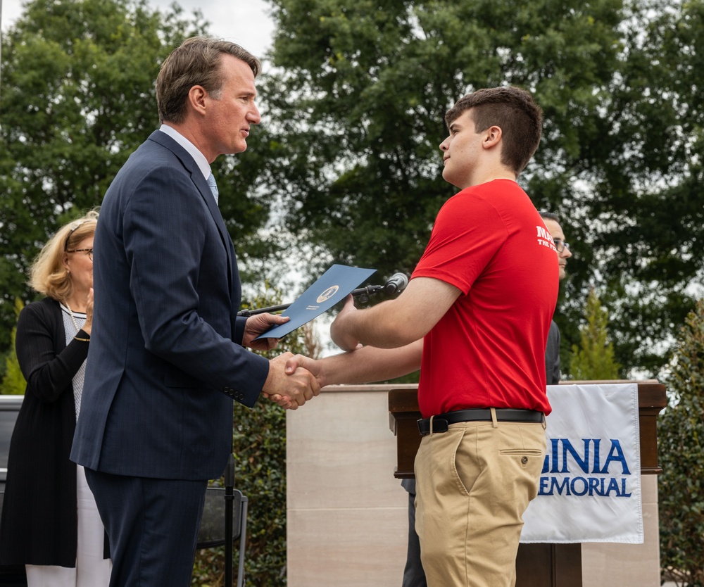
[[[660,564],[680,587],[704,586],[704,301],[686,318],[658,419]]]

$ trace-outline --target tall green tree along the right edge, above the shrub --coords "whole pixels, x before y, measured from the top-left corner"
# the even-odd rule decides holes
[[[596,245],[588,273],[603,273],[617,358],[652,374],[701,294],[703,13],[701,0],[629,6],[579,236]]]

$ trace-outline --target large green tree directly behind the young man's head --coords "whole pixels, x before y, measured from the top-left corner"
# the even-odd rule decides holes
[[[280,130],[275,154],[285,163],[278,170],[291,227],[328,252],[321,263],[386,275],[413,269],[454,192],[441,179],[438,145],[458,97],[507,82],[539,96],[546,141],[525,179],[539,183],[534,193],[547,207],[569,177],[565,157],[597,134],[603,89],[618,67],[617,0],[272,6],[272,59],[282,71],[262,95]]]

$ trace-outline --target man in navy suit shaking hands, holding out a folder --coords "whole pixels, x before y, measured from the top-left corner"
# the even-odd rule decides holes
[[[240,283],[210,163],[241,153],[260,121],[259,61],[187,39],[156,82],[163,125],[108,189],[94,240],[96,315],[71,458],[110,538],[111,587],[179,587],[191,569],[208,479],[232,450],[232,399],[292,408],[320,392],[245,346],[287,318],[237,317]]]

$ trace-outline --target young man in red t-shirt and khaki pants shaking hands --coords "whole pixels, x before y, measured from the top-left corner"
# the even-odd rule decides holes
[[[460,99],[446,122],[443,177],[461,191],[441,208],[408,287],[365,310],[349,298],[331,328],[348,352],[287,367],[321,385],[420,368],[416,529],[427,583],[508,587],[550,412],[544,353],[558,266],[516,183],[542,115],[526,91],[501,87]]]

